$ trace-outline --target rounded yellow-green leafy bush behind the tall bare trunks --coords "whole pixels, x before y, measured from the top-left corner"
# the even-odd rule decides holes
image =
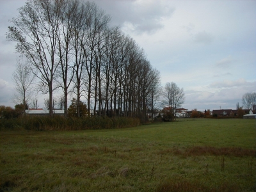
[[[73,98],[68,108],[68,116],[87,116],[87,106],[81,100],[79,101],[79,115],[77,115],[77,99]]]

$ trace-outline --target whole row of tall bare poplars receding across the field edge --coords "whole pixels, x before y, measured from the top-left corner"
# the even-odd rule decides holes
[[[30,0],[19,8],[6,37],[29,61],[49,93],[49,113],[57,90],[87,101],[88,113],[140,117],[153,109],[159,95],[160,74],[145,52],[118,27],[110,27],[95,3],[81,0]],[[24,99],[25,100],[25,99]],[[77,105],[77,116],[79,116]]]

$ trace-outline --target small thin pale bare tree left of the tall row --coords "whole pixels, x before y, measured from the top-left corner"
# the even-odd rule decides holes
[[[17,60],[16,70],[13,73],[13,81],[15,84],[15,93],[13,102],[15,104],[22,103],[25,110],[30,104],[33,93],[33,81],[35,76],[32,74],[28,60],[23,61],[22,58]]]

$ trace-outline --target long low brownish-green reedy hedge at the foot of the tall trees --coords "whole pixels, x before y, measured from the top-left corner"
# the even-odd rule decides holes
[[[0,119],[0,130],[33,130],[33,131],[62,131],[86,129],[116,129],[136,127],[140,125],[138,118],[100,117],[65,118],[63,116],[33,116],[12,119]]]

